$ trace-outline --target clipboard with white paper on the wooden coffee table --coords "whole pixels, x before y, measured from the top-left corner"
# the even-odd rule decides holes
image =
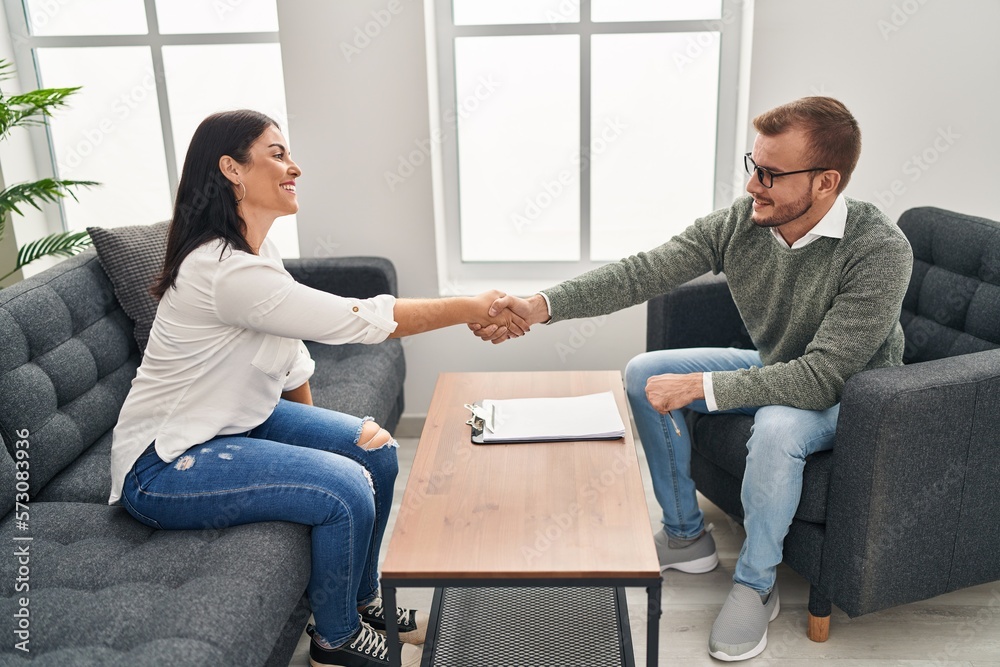
[[[625,425],[611,392],[466,404],[477,445],[619,440]]]

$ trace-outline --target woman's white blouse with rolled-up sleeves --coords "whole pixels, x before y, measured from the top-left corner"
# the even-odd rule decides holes
[[[221,259],[220,259],[221,256]],[[156,310],[111,445],[111,496],[152,443],[164,461],[267,419],[281,392],[315,369],[302,340],[381,343],[395,331],[388,294],[349,299],[295,282],[270,240],[260,255],[206,243],[181,264]]]

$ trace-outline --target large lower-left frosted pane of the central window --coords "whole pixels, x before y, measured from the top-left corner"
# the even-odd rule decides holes
[[[579,259],[579,53],[576,35],[455,40],[463,261]]]

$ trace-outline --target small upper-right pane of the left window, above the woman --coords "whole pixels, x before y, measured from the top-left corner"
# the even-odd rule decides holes
[[[276,0],[156,0],[160,32],[277,32]]]

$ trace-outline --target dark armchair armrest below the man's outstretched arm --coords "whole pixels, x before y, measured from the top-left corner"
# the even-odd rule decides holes
[[[753,348],[724,274],[705,275],[646,304],[646,351]]]

